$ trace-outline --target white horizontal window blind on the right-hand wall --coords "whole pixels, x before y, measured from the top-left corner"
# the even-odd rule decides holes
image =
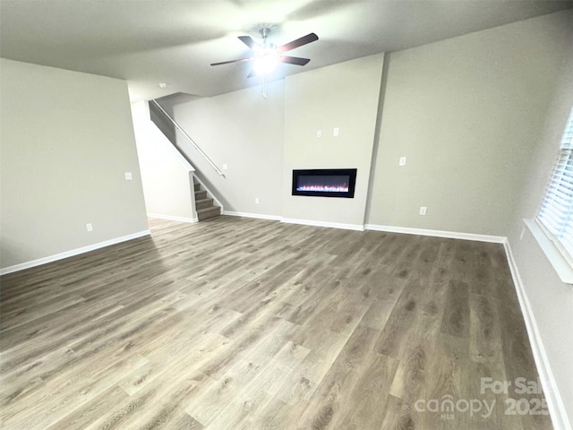
[[[573,263],[573,108],[537,219],[569,263]]]

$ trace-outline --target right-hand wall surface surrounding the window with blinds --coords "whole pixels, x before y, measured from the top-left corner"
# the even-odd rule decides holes
[[[541,204],[545,186],[552,173],[553,163],[559,152],[560,138],[573,106],[573,13],[560,14],[558,28],[568,23],[568,31],[561,34],[563,43],[557,85],[552,91],[552,104],[544,124],[535,133],[535,149],[531,151],[526,183],[517,205],[509,231],[509,244],[517,262],[543,348],[547,354],[553,377],[559,387],[569,422],[573,423],[573,286],[560,281],[551,263],[526,229],[523,219],[533,219]]]

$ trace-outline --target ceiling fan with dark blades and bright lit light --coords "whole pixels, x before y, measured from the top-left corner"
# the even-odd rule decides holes
[[[238,60],[223,61],[220,63],[213,63],[211,65],[221,65],[221,64],[231,64],[231,63],[242,63],[245,61],[252,61],[253,67],[252,72],[247,75],[247,78],[252,76],[265,76],[266,74],[272,72],[278,63],[304,65],[311,61],[309,58],[300,58],[298,56],[285,56],[284,53],[295,49],[296,47],[302,47],[307,43],[314,42],[318,40],[319,37],[314,33],[309,33],[302,38],[295,39],[291,42],[286,43],[277,47],[273,43],[269,43],[267,38],[269,37],[270,29],[264,28],[259,31],[261,33],[262,43],[257,43],[252,39],[251,36],[239,36],[241,40],[249,49],[252,51],[252,56],[248,58],[240,58]]]

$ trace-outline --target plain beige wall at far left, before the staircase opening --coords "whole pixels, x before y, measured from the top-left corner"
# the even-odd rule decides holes
[[[146,231],[126,82],[0,61],[1,267]]]

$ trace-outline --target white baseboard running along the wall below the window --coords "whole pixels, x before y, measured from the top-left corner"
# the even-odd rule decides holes
[[[557,383],[555,382],[555,377],[552,373],[552,368],[549,364],[549,359],[547,358],[545,348],[543,347],[543,340],[539,333],[539,329],[537,328],[537,323],[535,322],[535,315],[531,310],[531,304],[527,297],[526,288],[524,288],[523,281],[519,276],[517,262],[513,256],[513,252],[511,251],[511,245],[509,245],[508,240],[506,240],[503,245],[508,257],[511,277],[513,278],[513,283],[516,286],[517,300],[519,301],[521,313],[523,314],[523,318],[526,322],[529,342],[531,343],[535,365],[537,366],[537,372],[539,373],[539,378],[543,386],[543,394],[545,395],[545,400],[547,400],[547,408],[549,409],[550,417],[552,418],[553,428],[555,430],[571,430],[567,410],[565,409],[565,404],[561,399]]]

